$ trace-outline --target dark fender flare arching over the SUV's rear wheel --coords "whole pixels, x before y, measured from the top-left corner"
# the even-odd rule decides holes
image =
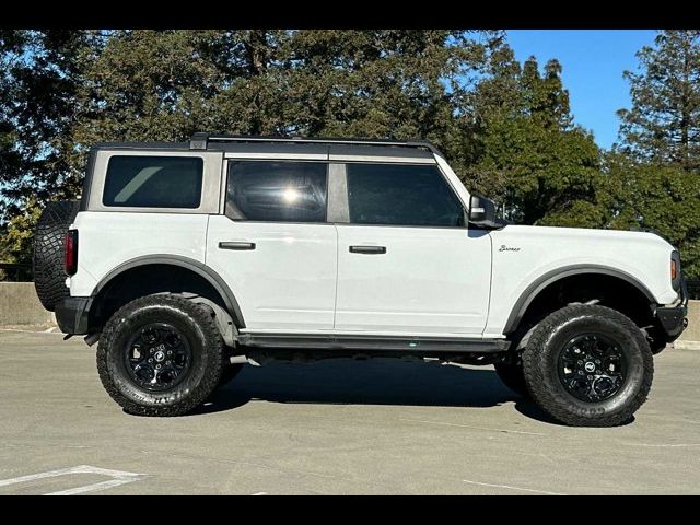
[[[133,259],[129,259],[120,264],[119,266],[114,268],[112,271],[109,271],[105,277],[103,277],[97,283],[97,285],[93,289],[91,296],[93,299],[96,298],[97,294],[100,294],[100,292],[107,284],[109,284],[109,282],[112,282],[114,278],[118,277],[125,271],[131,270],[133,268],[138,268],[139,266],[148,266],[148,265],[178,266],[180,268],[186,268],[188,270],[191,270],[198,276],[202,277],[213,287],[213,289],[217,292],[219,292],[219,295],[221,295],[221,298],[223,299],[226,310],[229,311],[229,314],[233,317],[234,322],[236,323],[236,326],[238,328],[245,328],[245,322],[243,319],[243,313],[241,312],[241,306],[238,305],[238,302],[236,301],[236,298],[234,296],[233,292],[226,284],[226,281],[224,281],[219,273],[217,273],[207,265],[182,255],[167,255],[167,254],[145,255],[141,257],[136,257]]]

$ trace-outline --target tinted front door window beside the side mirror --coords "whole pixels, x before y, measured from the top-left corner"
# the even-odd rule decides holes
[[[438,166],[348,164],[354,224],[464,226],[464,208]]]

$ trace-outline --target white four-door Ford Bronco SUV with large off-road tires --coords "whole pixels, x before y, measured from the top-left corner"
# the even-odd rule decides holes
[[[34,265],[61,330],[98,341],[109,395],[148,416],[243,363],[413,355],[493,364],[558,420],[614,425],[687,324],[662,237],[508,224],[425,141],[98,144]]]

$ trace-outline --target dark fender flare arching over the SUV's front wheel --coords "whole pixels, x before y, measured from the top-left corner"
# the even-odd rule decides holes
[[[584,273],[597,273],[603,276],[610,276],[621,279],[626,282],[629,282],[634,288],[637,288],[640,292],[644,294],[644,296],[649,300],[649,303],[654,305],[656,304],[656,300],[652,292],[637,279],[635,277],[627,273],[626,271],[619,270],[617,268],[610,268],[608,266],[603,265],[571,265],[562,268],[556,268],[550,270],[540,277],[538,277],[535,281],[533,281],[524,291],[521,293],[517,301],[511,308],[511,315],[509,315],[508,322],[505,323],[505,328],[503,328],[503,334],[508,335],[513,332],[517,325],[520,325],[525,312],[527,312],[527,307],[535,300],[535,298],[549,284],[557,282],[561,279],[571,276],[579,276]]]

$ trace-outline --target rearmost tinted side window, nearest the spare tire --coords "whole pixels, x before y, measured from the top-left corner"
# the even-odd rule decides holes
[[[191,156],[114,155],[107,164],[104,206],[199,208],[203,161]]]

